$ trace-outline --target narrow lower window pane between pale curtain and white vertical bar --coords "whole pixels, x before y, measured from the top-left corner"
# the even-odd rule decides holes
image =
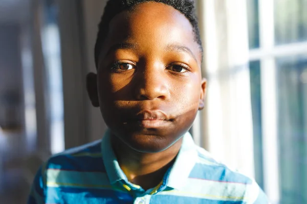
[[[263,189],[260,61],[250,62],[250,82],[253,114],[255,179],[258,185]]]

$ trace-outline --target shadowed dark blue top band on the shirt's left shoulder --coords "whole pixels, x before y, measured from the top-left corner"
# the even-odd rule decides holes
[[[67,171],[104,171],[101,140],[70,148],[51,156],[46,169]]]

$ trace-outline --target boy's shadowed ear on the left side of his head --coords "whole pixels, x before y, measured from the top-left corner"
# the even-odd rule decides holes
[[[86,75],[86,90],[94,107],[99,107],[99,97],[97,89],[97,74],[91,72]]]

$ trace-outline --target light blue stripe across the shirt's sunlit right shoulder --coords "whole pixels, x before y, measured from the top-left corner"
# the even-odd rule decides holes
[[[238,172],[229,170],[225,166],[209,166],[196,163],[189,177],[221,182],[252,184],[252,180]]]

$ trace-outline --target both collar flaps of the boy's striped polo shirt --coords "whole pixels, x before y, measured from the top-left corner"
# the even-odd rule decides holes
[[[102,159],[111,184],[118,181],[127,181],[127,177],[121,170],[113,148],[111,146],[111,132],[106,131],[101,141]],[[195,165],[197,158],[197,151],[194,141],[189,132],[183,136],[182,146],[179,154],[170,169],[166,186],[181,190],[189,177],[192,168]],[[180,178],[180,179],[179,179]]]

